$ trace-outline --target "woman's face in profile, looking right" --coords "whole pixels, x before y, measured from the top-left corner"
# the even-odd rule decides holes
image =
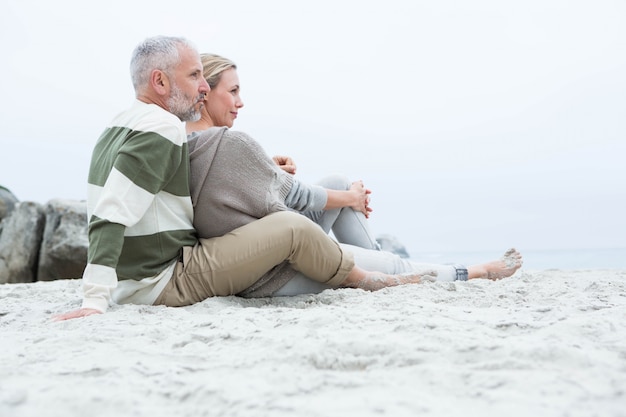
[[[237,70],[229,68],[222,72],[220,82],[211,88],[206,97],[206,110],[215,126],[233,127],[243,101],[239,96]]]

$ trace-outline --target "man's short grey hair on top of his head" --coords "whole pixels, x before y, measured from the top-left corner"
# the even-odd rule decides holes
[[[176,36],[154,36],[137,45],[130,60],[130,77],[135,91],[148,84],[155,69],[171,75],[180,62],[181,47],[195,50],[190,41]]]

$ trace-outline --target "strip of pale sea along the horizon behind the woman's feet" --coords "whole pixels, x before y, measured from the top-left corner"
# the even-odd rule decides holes
[[[544,249],[517,248],[525,270],[618,269],[626,271],[626,248]],[[502,251],[409,252],[412,260],[428,263],[474,265],[502,257]]]

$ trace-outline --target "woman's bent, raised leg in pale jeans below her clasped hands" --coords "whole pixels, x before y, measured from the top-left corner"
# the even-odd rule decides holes
[[[351,182],[343,175],[331,175],[317,183],[331,190],[349,190]],[[341,209],[307,211],[302,213],[329,233],[331,230],[337,241],[365,249],[380,250],[380,245],[370,231],[365,215],[351,207]]]

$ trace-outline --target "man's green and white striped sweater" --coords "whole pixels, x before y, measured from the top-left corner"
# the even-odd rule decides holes
[[[83,307],[152,304],[182,246],[193,246],[184,124],[136,100],[96,143],[89,169]]]

